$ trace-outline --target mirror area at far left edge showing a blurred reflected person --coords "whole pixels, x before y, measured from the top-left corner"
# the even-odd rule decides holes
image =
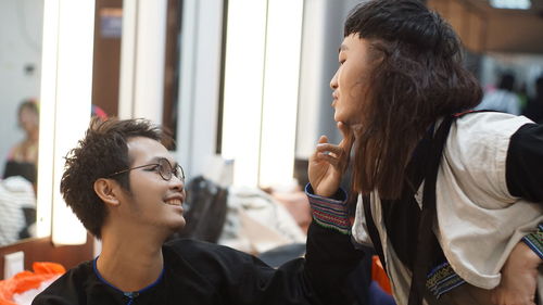
[[[35,234],[43,0],[0,1],[0,245]]]

